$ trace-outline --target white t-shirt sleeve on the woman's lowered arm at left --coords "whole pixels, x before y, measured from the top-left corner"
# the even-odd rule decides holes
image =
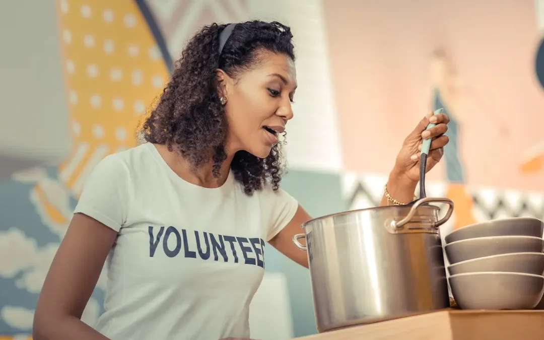
[[[110,154],[98,163],[85,181],[74,213],[82,213],[119,231],[129,207],[129,172],[119,156]]]

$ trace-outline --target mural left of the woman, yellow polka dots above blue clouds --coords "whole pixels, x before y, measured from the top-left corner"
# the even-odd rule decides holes
[[[1,206],[11,207],[2,214],[9,227],[0,231],[1,258],[17,259],[0,271],[0,333],[32,329],[37,295],[86,177],[107,154],[136,144],[135,128],[169,73],[141,3],[57,5],[64,65],[59,76],[65,78],[72,150],[58,166],[21,171],[0,183],[0,192],[9,193],[0,196]],[[35,218],[17,219],[13,213],[21,210]],[[104,289],[101,276],[83,316],[90,325],[102,312]]]

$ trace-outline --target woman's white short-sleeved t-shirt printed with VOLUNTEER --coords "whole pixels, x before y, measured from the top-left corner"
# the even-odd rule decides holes
[[[190,184],[151,143],[107,156],[75,209],[118,231],[95,329],[112,340],[250,337],[265,242],[297,208],[283,190],[245,195],[232,174],[220,188]]]

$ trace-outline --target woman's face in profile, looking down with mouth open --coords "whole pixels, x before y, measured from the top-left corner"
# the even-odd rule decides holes
[[[232,79],[221,73],[229,133],[227,152],[245,150],[266,158],[286,123],[293,118],[296,89],[293,60],[263,51],[259,63]]]

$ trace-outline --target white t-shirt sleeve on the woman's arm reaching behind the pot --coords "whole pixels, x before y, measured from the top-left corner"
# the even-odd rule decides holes
[[[293,219],[299,202],[286,191],[265,189],[264,206],[269,211],[267,242],[274,238]]]

